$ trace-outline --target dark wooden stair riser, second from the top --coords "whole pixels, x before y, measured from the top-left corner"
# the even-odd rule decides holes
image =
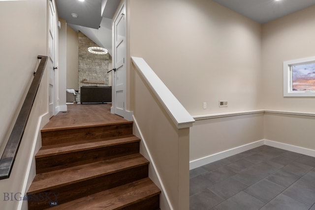
[[[139,153],[139,142],[126,143],[105,148],[72,152],[62,155],[36,158],[36,173],[45,173],[67,167],[92,163],[115,157]]]

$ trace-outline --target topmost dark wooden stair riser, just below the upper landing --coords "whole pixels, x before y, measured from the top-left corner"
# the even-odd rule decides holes
[[[42,146],[132,134],[132,123],[90,128],[42,131]]]

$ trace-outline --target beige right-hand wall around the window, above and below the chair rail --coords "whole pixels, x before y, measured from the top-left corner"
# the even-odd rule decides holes
[[[315,98],[283,97],[283,62],[315,56],[315,6],[262,26],[263,106],[315,112]],[[314,117],[266,114],[265,139],[315,149]]]

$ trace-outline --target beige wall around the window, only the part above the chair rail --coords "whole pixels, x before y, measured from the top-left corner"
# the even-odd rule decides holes
[[[315,112],[315,98],[284,98],[283,62],[315,56],[315,6],[262,26],[263,107]]]

